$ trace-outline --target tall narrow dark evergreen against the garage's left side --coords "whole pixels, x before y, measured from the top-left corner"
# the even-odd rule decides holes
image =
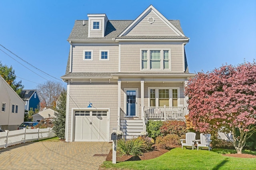
[[[54,133],[60,138],[65,138],[65,123],[66,123],[66,90],[62,91],[58,98],[57,107],[54,115]]]

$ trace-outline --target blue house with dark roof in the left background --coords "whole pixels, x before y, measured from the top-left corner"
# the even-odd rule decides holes
[[[23,101],[25,102],[25,111],[29,111],[30,108],[40,110],[40,99],[36,93],[36,90],[22,90]]]

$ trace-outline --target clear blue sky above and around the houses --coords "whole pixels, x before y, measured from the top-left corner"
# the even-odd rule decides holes
[[[75,20],[88,20],[87,14],[106,14],[109,20],[135,20],[150,4],[167,19],[180,20],[184,34],[190,38],[185,48],[191,73],[256,58],[256,0],[2,0],[0,44],[60,79],[70,48],[66,39]],[[16,80],[22,80],[25,89],[52,80],[8,54],[44,77],[0,51],[0,61],[12,65]]]

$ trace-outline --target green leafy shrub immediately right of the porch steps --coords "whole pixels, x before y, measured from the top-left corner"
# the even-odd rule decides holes
[[[148,137],[151,137],[156,141],[156,137],[162,136],[160,132],[160,127],[163,125],[162,121],[149,120],[146,125],[146,131],[148,132]]]

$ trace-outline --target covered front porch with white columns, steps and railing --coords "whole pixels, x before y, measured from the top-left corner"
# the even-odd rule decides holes
[[[126,135],[146,131],[148,120],[185,120],[184,88],[188,73],[112,75],[118,79],[118,130]]]

